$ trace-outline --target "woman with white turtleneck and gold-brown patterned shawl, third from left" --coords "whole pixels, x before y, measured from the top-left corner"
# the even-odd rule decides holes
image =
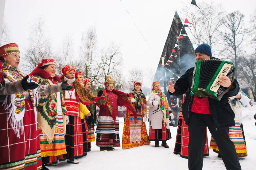
[[[69,117],[65,135],[67,154],[61,155],[59,161],[67,160],[69,163],[78,164],[79,161],[76,158],[84,156],[84,148],[86,148],[87,152],[87,146],[83,142],[80,103],[88,105],[92,102],[97,102],[104,105],[106,101],[104,97],[97,97],[85,90],[83,85],[75,79],[76,70],[74,66],[65,65],[61,71],[63,75],[60,76],[60,79],[62,81],[67,80],[67,85],[71,85],[73,88],[64,91],[65,106]]]

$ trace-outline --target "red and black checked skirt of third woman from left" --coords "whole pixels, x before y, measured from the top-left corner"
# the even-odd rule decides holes
[[[84,122],[83,122],[84,124]],[[83,135],[85,134],[85,135]],[[59,156],[59,161],[83,157],[87,154],[87,142],[83,141],[86,131],[83,131],[81,118],[78,116],[69,116],[69,123],[66,126],[65,144],[66,154]],[[86,153],[85,149],[86,148]]]

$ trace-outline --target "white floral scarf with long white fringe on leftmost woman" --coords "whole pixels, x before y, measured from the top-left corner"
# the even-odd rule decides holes
[[[19,71],[17,68],[12,67],[10,64],[6,62],[2,62],[4,74],[6,75],[6,82],[15,82],[23,79],[26,75]],[[31,78],[28,79],[30,82],[32,81]],[[35,94],[37,94],[37,89],[35,90],[28,90],[30,94],[30,100],[32,102],[32,105],[35,109]],[[25,96],[26,92],[19,92],[16,94],[10,95],[10,104],[7,104],[7,98],[4,102],[5,106],[7,107],[7,110],[10,112],[10,116],[8,117],[8,120],[10,121],[10,124],[12,128],[14,129],[15,133],[17,134],[17,137],[19,137],[19,130],[21,129],[21,134],[23,128],[21,128],[21,120],[24,117],[25,114]],[[37,94],[38,96],[38,94]],[[36,114],[36,112],[35,112]],[[35,115],[37,118],[37,114]],[[37,119],[36,119],[37,120]]]

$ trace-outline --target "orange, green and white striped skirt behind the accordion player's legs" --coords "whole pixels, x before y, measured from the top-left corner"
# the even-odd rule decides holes
[[[247,157],[247,150],[245,145],[245,139],[243,138],[242,128],[239,121],[235,121],[235,126],[229,127],[228,132],[230,140],[235,145],[235,150],[238,158]],[[215,140],[211,137],[210,149],[213,149],[215,153],[219,154],[219,148]]]

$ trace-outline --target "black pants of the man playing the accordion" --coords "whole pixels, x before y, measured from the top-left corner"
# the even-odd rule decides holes
[[[241,170],[235,145],[228,136],[228,128],[215,131],[211,115],[193,112],[188,123],[188,169],[199,170],[203,168],[206,126],[219,147],[219,153],[226,169]]]

